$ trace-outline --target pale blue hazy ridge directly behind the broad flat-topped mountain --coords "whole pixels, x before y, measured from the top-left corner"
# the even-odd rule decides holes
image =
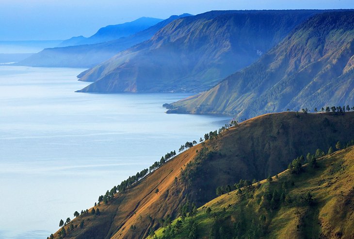
[[[190,15],[182,14],[180,16],[170,16],[141,32],[108,42],[62,48],[47,48],[23,61],[20,61],[17,65],[43,67],[92,67],[111,58],[121,50],[150,39],[156,32],[171,21],[185,16]],[[71,43],[69,44],[72,44],[76,40],[80,41],[80,37],[71,38]]]

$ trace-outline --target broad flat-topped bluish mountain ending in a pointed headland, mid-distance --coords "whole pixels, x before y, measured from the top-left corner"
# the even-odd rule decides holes
[[[255,62],[319,10],[211,11],[175,20],[150,40],[80,75],[79,92],[200,92]]]

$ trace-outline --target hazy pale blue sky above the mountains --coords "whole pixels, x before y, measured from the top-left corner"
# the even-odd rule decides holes
[[[0,40],[67,39],[141,16],[230,9],[354,8],[354,0],[0,0]]]

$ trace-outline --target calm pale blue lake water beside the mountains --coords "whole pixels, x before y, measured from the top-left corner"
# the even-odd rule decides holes
[[[0,66],[0,238],[47,238],[60,219],[229,119],[166,114],[186,94],[83,94],[83,69]]]

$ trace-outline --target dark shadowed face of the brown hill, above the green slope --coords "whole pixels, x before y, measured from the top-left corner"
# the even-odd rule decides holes
[[[337,141],[353,138],[354,112],[345,115],[284,112],[245,121],[213,142],[217,159],[193,167],[188,195],[199,205],[215,196],[215,189],[242,179],[257,180],[287,168],[290,160],[317,148],[327,152]]]

